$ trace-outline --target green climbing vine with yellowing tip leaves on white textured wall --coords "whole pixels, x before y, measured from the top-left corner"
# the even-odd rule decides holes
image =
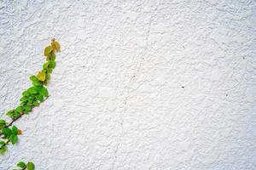
[[[56,42],[54,38],[51,40],[50,45],[44,48],[46,62],[42,71],[38,71],[36,76],[29,77],[32,87],[27,88],[22,93],[20,105],[6,113],[7,119],[0,119],[0,154],[6,152],[9,144],[16,144],[19,139],[18,136],[22,134],[22,131],[13,124],[22,116],[28,115],[34,107],[37,107],[49,97],[46,86],[49,82],[50,74],[55,68],[55,52],[59,52],[60,48],[59,42]],[[25,164],[21,161],[17,166],[28,170],[34,168],[32,162]]]

